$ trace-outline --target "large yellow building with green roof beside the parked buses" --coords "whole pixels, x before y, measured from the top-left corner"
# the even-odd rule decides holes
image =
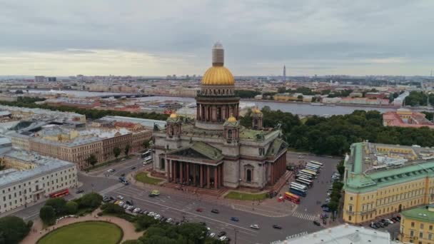
[[[345,157],[343,220],[370,223],[434,196],[434,150],[354,143]]]

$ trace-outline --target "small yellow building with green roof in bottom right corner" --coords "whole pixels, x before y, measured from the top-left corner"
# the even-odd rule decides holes
[[[403,243],[433,244],[434,205],[403,211],[399,239]]]

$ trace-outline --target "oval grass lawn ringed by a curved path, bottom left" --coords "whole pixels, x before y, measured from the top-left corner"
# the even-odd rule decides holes
[[[37,244],[116,244],[122,239],[118,225],[101,221],[89,221],[66,225],[44,235]]]

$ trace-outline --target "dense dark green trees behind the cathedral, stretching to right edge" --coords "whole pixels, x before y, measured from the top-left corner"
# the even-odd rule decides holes
[[[434,145],[434,131],[430,128],[386,127],[378,111],[353,111],[330,118],[312,116],[304,123],[292,113],[271,111],[269,107],[264,107],[262,112],[263,126],[275,127],[280,123],[291,148],[320,155],[343,156],[352,143],[364,140],[404,146]],[[251,119],[247,113],[241,118],[241,124],[250,127]]]

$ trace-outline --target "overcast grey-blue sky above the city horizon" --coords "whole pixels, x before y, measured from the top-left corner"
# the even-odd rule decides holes
[[[0,0],[0,75],[424,75],[434,1]]]

